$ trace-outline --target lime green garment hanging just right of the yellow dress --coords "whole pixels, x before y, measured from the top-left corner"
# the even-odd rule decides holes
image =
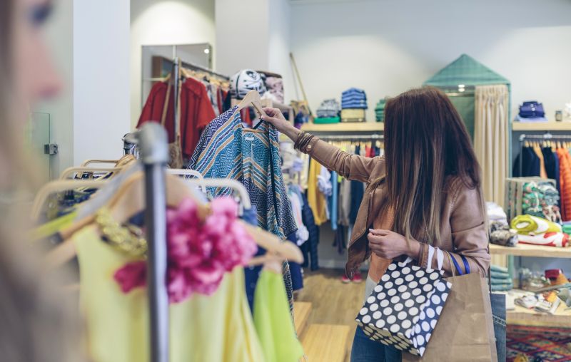
[[[266,362],[298,362],[303,357],[281,274],[261,272],[254,293],[253,314]]]

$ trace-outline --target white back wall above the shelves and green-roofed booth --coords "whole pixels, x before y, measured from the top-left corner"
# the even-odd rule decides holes
[[[467,53],[512,82],[512,104],[537,99],[552,118],[571,99],[571,2],[329,1],[294,4],[291,45],[312,108],[355,86],[369,120],[397,95]]]

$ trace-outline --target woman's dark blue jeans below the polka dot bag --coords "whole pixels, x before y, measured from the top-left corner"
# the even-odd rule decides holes
[[[351,348],[351,362],[400,362],[401,360],[398,349],[371,341],[365,332],[357,327]]]

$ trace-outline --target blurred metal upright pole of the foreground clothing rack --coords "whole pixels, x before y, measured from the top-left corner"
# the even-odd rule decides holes
[[[148,244],[147,281],[150,308],[151,361],[168,362],[168,294],[166,290],[166,164],[168,135],[158,123],[138,132],[145,172],[145,224]]]

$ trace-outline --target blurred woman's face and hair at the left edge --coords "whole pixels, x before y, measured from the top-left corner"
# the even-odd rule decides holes
[[[0,1],[0,359],[83,361],[77,307],[54,274],[41,269],[41,251],[26,239],[22,188],[34,177],[24,155],[29,107],[57,93],[59,78],[43,39],[46,0]]]

